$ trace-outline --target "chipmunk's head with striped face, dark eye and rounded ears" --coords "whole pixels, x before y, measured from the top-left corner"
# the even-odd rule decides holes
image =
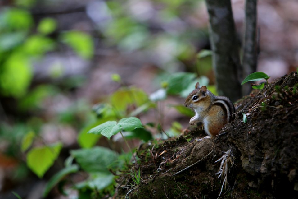
[[[189,108],[196,108],[199,103],[204,101],[207,96],[207,87],[200,87],[199,82],[196,83],[196,88],[187,96],[184,106]]]

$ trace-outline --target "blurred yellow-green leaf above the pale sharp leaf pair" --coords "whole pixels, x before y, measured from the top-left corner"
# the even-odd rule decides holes
[[[129,105],[141,106],[148,100],[148,95],[138,88],[121,88],[111,95],[111,104],[118,112],[126,112]]]

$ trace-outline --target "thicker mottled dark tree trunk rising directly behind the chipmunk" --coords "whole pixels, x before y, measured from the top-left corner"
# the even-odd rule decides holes
[[[230,0],[206,0],[210,21],[213,67],[219,95],[241,98],[242,69]]]

